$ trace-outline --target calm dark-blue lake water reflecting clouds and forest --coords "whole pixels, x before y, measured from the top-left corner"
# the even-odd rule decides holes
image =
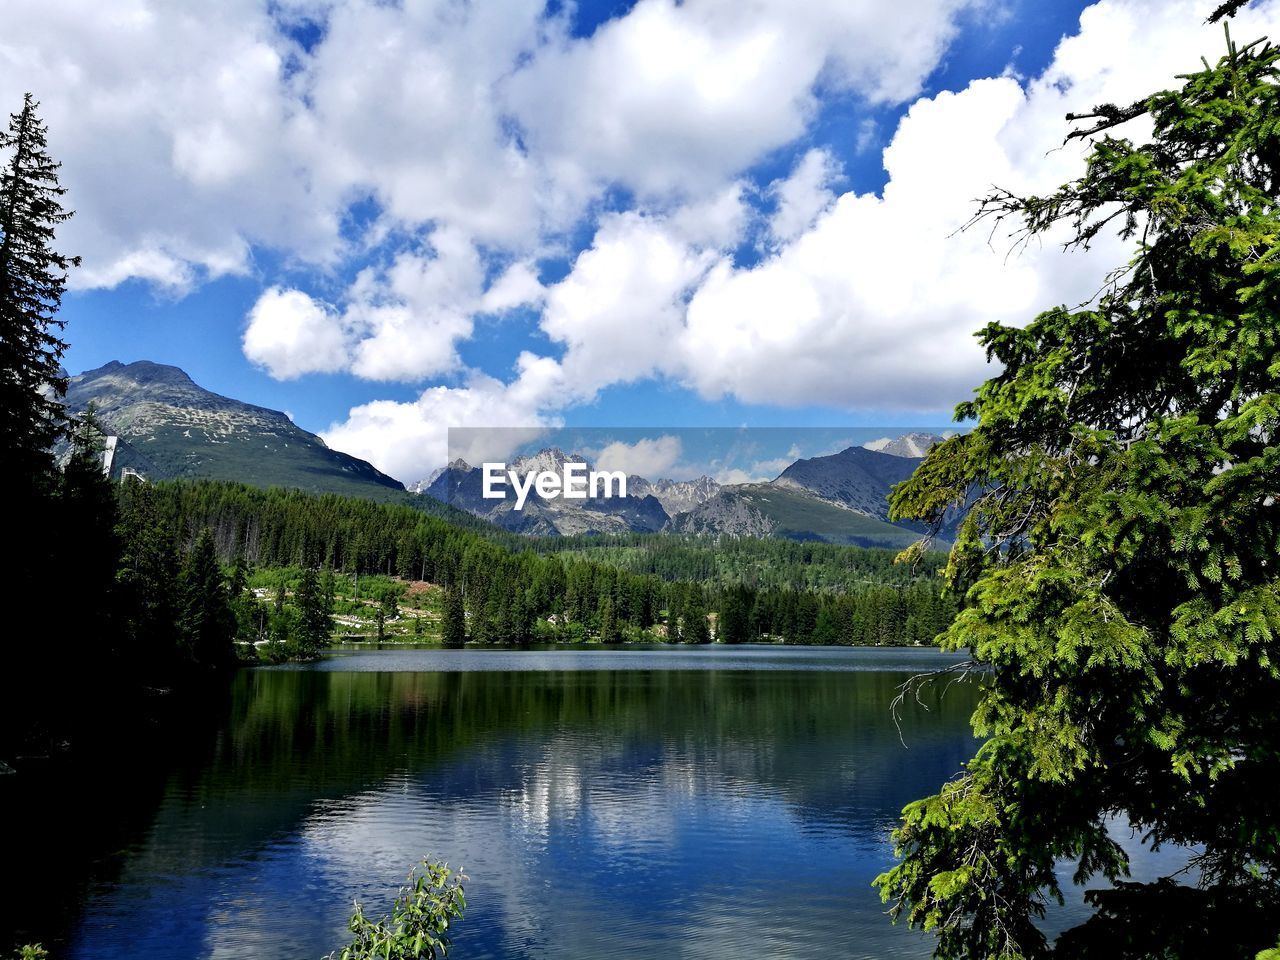
[[[320,957],[353,899],[380,915],[430,855],[470,876],[460,960],[924,957],[870,884],[902,805],[977,748],[973,686],[891,716],[908,676],[951,662],[380,650],[243,671],[207,727],[122,745],[70,820],[28,799],[42,838],[18,842],[32,888],[10,909],[84,960]]]

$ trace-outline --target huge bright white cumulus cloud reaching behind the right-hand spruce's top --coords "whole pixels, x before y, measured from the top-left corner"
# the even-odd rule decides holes
[[[636,12],[652,22],[632,26],[676,44],[680,37],[663,31],[684,28],[680,18],[695,13],[704,18],[698,23],[710,22],[709,10],[641,4]],[[1251,8],[1238,32],[1267,32],[1277,10],[1275,0]],[[1041,77],[978,79],[914,102],[884,148],[888,180],[879,193],[833,196],[831,156],[808,154],[776,184],[778,205],[769,224],[776,246],[750,266],[728,253],[742,236],[744,218],[710,215],[717,206],[707,200],[692,198],[662,215],[607,214],[570,274],[547,291],[541,329],[563,355],[539,358],[550,372],[544,383],[556,387],[540,396],[526,392],[535,401],[526,410],[530,416],[561,411],[612,383],[648,376],[671,378],[708,398],[754,403],[904,412],[950,407],[988,372],[973,339],[977,328],[989,320],[1025,323],[1048,306],[1085,301],[1105,270],[1125,256],[1112,239],[1082,255],[1064,253],[1053,238],[1010,255],[1006,237],[988,242],[983,229],[956,232],[972,215],[973,198],[993,184],[1044,191],[1079,175],[1084,147],[1062,146],[1062,116],[1096,102],[1132,100],[1170,83],[1178,70],[1193,69],[1201,52],[1219,42],[1215,31],[1199,24],[1194,0],[1103,0],[1084,12],[1079,35],[1060,44]],[[605,31],[593,42],[626,63],[623,40]],[[588,63],[594,56],[586,46],[568,55],[584,61],[575,68],[584,72],[573,74],[572,90],[593,90],[581,78],[604,69]],[[681,63],[677,56],[671,69],[682,69]],[[660,92],[660,78],[654,82]],[[748,77],[748,88],[750,83]],[[678,131],[685,106],[663,105],[660,97],[646,106],[655,114],[668,108]],[[669,161],[660,146],[648,154],[648,145],[630,140],[640,133],[617,133],[617,142],[659,168]],[[1144,131],[1135,124],[1130,133],[1142,137]],[[562,136],[567,143],[570,134]],[[625,166],[608,131],[572,136],[603,151],[582,160],[584,169],[605,161]],[[750,138],[750,129],[744,136]],[[609,159],[614,150],[620,156]],[[622,166],[613,168],[614,175],[625,175]],[[668,174],[634,175],[636,186],[658,189]],[[722,212],[733,210],[723,196],[721,201]],[[692,230],[690,223],[726,227]],[[500,394],[506,388],[492,389]],[[472,415],[489,416],[479,408]],[[722,479],[760,479],[771,467],[726,468]]]

